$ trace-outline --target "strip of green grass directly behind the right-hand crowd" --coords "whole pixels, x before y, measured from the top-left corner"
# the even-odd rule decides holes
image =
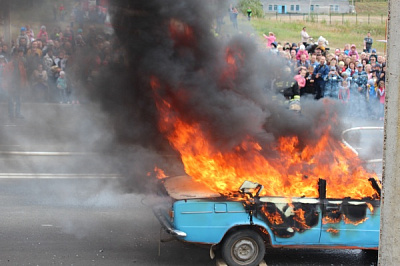
[[[368,31],[371,31],[372,38],[374,39],[373,47],[379,52],[383,53],[385,45],[382,42],[376,40],[385,39],[385,28],[386,24],[380,22],[380,20],[367,24],[357,24],[345,22],[332,22],[332,25],[327,21],[319,22],[306,22],[306,21],[280,21],[279,19],[253,19],[251,22],[255,28],[257,34],[262,36],[263,33],[272,31],[277,37],[277,41],[284,43],[298,43],[300,42],[300,32],[303,26],[307,27],[307,32],[315,40],[319,36],[324,36],[329,41],[329,47],[331,49],[341,48],[343,49],[344,44],[354,43],[358,47],[358,51],[362,51],[363,39]]]

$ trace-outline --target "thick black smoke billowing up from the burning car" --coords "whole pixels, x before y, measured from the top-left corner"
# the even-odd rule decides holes
[[[296,135],[301,142],[312,142],[332,123],[334,104],[304,101],[301,115],[282,104],[284,98],[271,90],[271,82],[284,72],[283,59],[260,50],[255,38],[215,36],[215,17],[227,12],[228,4],[112,1],[112,23],[127,63],[102,73],[95,96],[112,118],[118,143],[130,147],[118,150],[127,154],[121,168],[128,176],[145,178],[153,165],[165,167],[168,174],[183,171],[179,154],[157,127],[150,86],[154,76],[161,83],[160,96],[174,104],[181,119],[199,123],[218,150],[231,150],[246,136],[267,146],[279,136]],[[227,74],[232,71],[228,55],[236,61],[234,76]],[[339,132],[336,127],[334,133],[339,136]],[[130,180],[136,186],[139,179]]]

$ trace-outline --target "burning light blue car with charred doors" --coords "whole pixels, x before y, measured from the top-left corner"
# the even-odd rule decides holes
[[[238,192],[223,196],[189,176],[162,181],[168,200],[154,207],[167,233],[221,252],[229,266],[259,265],[267,248],[372,249],[379,245],[380,187],[369,180],[372,198],[326,198],[326,181],[318,198],[260,196],[263,186],[245,181]]]

